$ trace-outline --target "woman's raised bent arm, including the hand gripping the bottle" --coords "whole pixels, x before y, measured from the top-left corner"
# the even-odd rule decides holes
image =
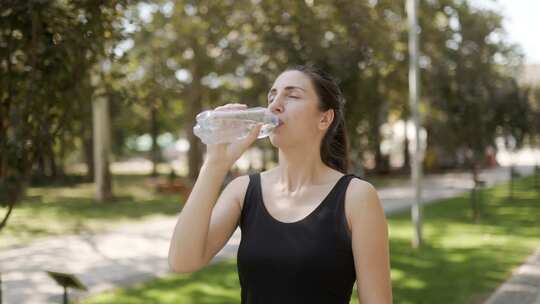
[[[227,104],[216,111],[244,109]],[[230,238],[240,217],[238,195],[247,178],[230,182],[220,195],[225,176],[242,153],[255,142],[259,123],[248,136],[233,143],[208,144],[207,158],[178,216],[169,246],[169,266],[175,272],[193,272],[206,265]],[[219,196],[219,199],[218,199]],[[217,201],[217,202],[216,202]]]

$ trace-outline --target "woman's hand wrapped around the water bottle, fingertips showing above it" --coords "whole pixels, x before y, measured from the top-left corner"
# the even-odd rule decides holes
[[[239,103],[229,103],[223,106],[219,106],[214,111],[230,111],[246,109],[247,105]],[[207,147],[207,162],[213,165],[225,166],[230,169],[232,165],[242,156],[242,154],[251,146],[251,144],[257,140],[257,136],[262,127],[262,123],[258,123],[252,128],[245,138],[232,142],[222,144],[208,144]]]

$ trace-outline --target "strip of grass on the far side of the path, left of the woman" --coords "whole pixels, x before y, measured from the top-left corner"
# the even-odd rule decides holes
[[[182,196],[156,194],[145,181],[144,176],[114,176],[115,199],[108,203],[93,199],[95,190],[91,183],[29,188],[0,231],[0,248],[23,245],[41,237],[96,233],[181,210]]]

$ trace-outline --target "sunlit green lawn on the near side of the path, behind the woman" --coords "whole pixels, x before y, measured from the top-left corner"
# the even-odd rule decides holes
[[[514,198],[507,185],[483,193],[479,222],[471,220],[468,196],[424,208],[425,245],[412,249],[408,212],[388,218],[394,303],[482,303],[540,246],[540,193],[532,178],[516,183]],[[82,301],[99,303],[239,303],[234,260],[192,274],[117,289]],[[358,303],[356,289],[351,303]]]

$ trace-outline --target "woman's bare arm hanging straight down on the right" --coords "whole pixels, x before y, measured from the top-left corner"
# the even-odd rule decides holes
[[[353,179],[347,195],[358,298],[362,304],[392,303],[388,225],[375,188]]]

